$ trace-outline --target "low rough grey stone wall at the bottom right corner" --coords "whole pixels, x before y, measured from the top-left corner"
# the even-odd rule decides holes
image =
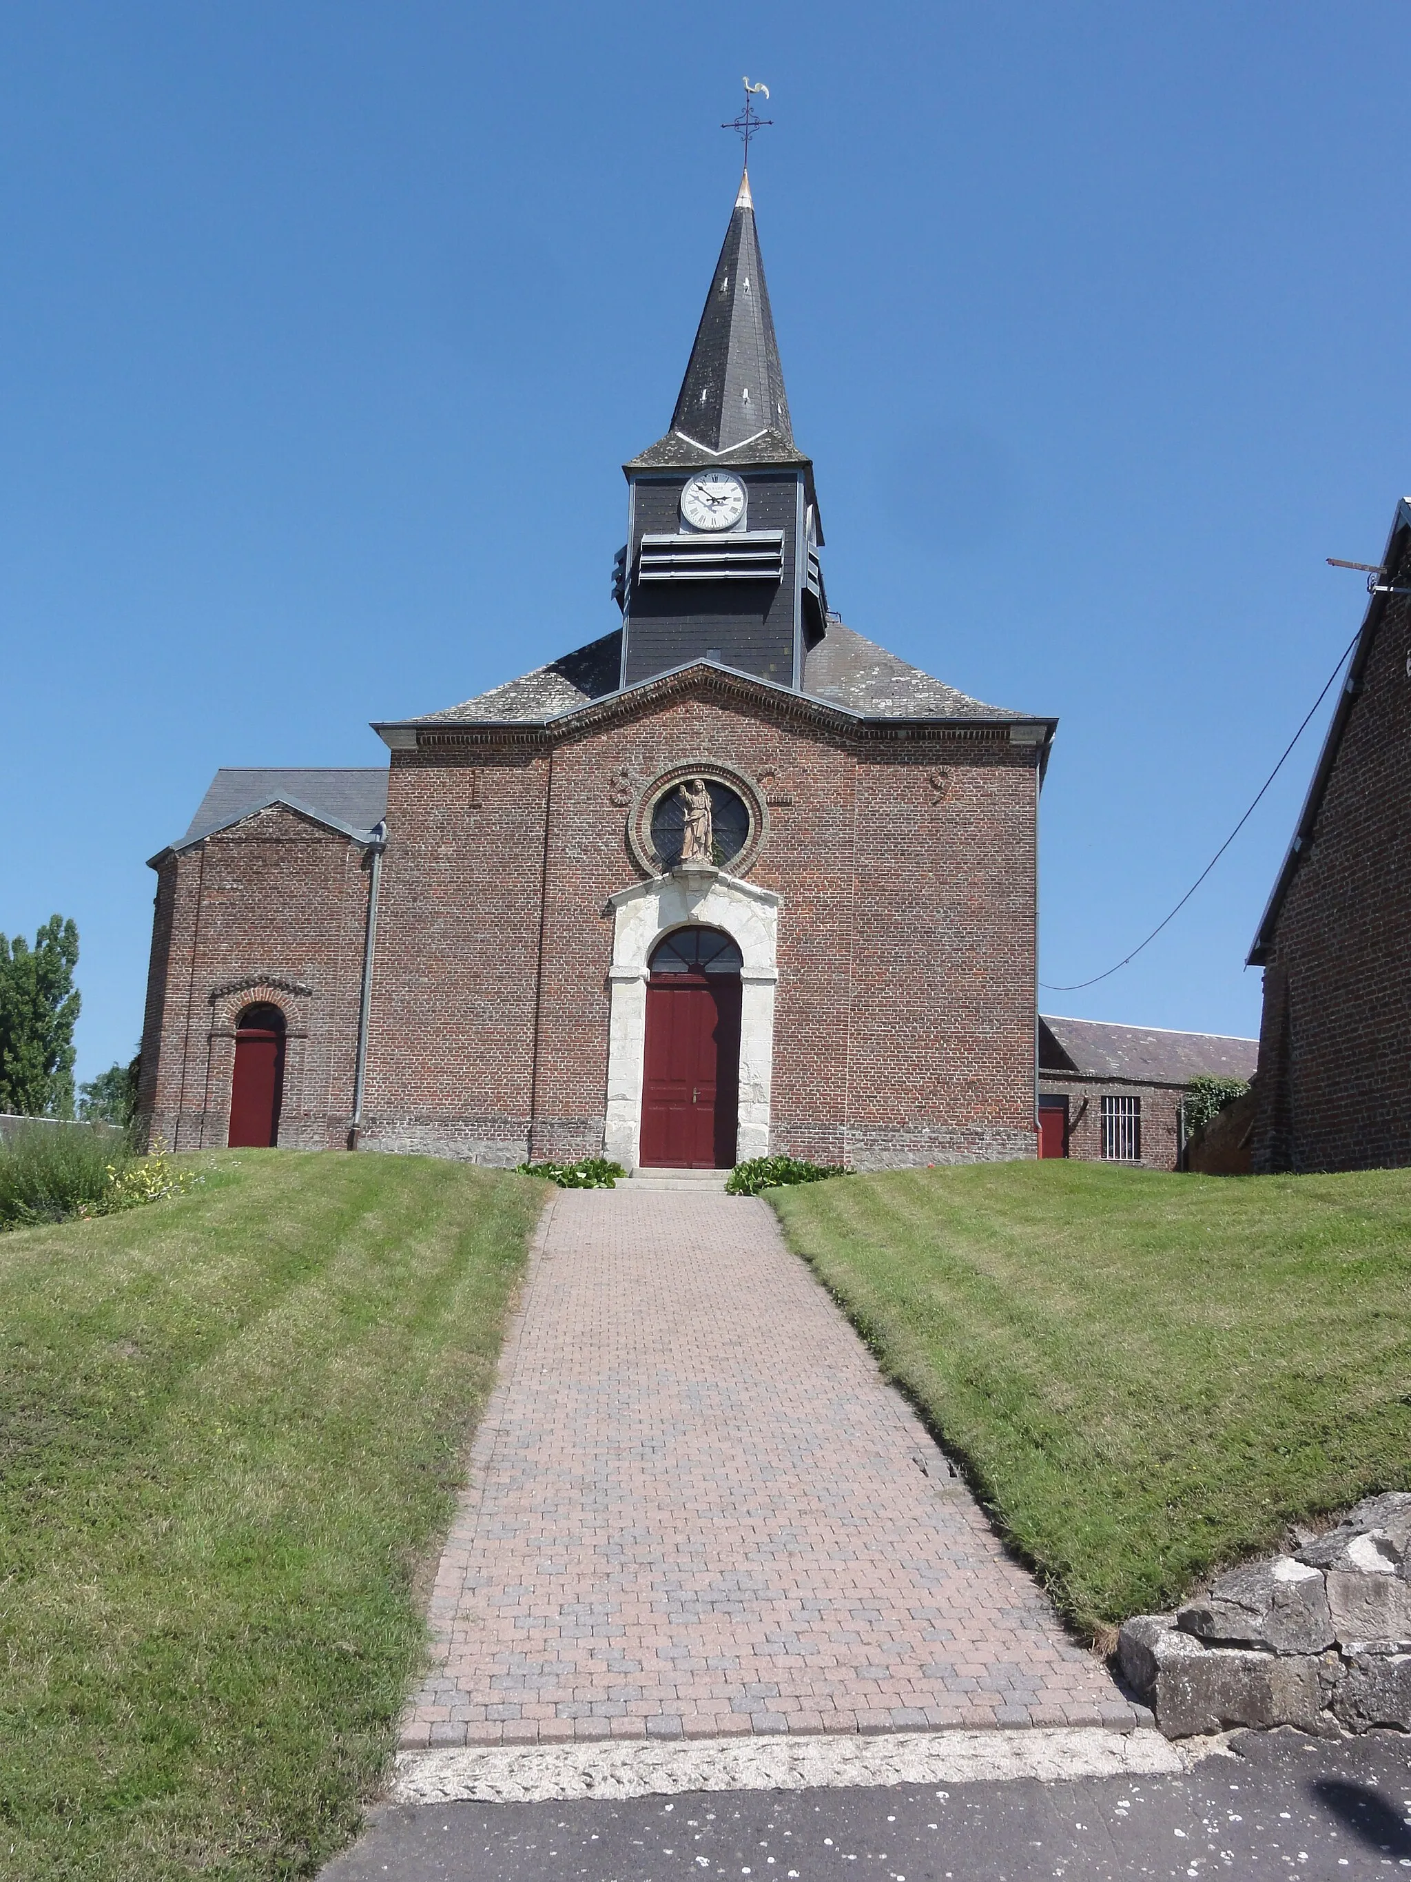
[[[1360,1502],[1292,1555],[1123,1622],[1118,1662],[1170,1739],[1232,1726],[1411,1731],[1411,1492]]]

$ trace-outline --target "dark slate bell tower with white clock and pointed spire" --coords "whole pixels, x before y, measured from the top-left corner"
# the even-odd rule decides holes
[[[813,461],[794,444],[749,171],[672,429],[623,465],[623,685],[692,661],[800,687],[828,627]]]

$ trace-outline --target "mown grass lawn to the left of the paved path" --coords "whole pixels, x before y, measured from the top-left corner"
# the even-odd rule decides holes
[[[544,1189],[237,1150],[0,1235],[0,1876],[303,1876],[423,1651]]]

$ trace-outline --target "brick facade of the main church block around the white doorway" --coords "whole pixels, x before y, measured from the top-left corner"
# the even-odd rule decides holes
[[[640,879],[632,792],[681,762],[769,775],[749,881],[783,898],[773,1148],[1033,1156],[1035,747],[1001,726],[877,753],[709,683],[553,743],[393,753],[363,1142],[602,1150],[606,901]]]

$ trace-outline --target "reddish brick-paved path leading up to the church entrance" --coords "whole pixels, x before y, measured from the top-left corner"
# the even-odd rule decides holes
[[[760,1201],[559,1195],[470,1479],[406,1746],[1134,1722]]]

